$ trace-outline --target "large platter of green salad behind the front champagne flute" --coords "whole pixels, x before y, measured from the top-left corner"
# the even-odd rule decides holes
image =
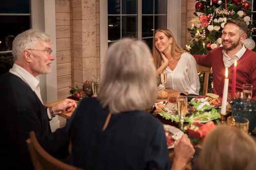
[[[193,98],[190,102],[188,102],[188,112],[184,118],[184,122],[188,122],[190,124],[193,122],[205,123],[220,118],[218,109],[220,108],[221,100],[222,99],[218,97],[218,95],[211,94]],[[166,107],[167,103],[169,103],[168,109]],[[170,99],[165,102],[157,102],[155,103],[153,114],[160,115],[166,120],[180,122],[176,105],[176,102],[171,101]]]

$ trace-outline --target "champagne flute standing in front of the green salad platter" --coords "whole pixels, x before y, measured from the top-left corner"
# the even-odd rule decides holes
[[[184,123],[184,118],[186,116],[186,107],[188,103],[188,97],[186,96],[177,96],[177,109],[178,109],[178,114],[180,117],[180,124],[181,124],[181,130],[183,131],[183,123]]]

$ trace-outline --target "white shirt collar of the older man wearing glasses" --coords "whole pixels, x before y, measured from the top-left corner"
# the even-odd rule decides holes
[[[34,77],[18,64],[14,63],[13,67],[9,70],[9,72],[20,77],[25,83],[30,86],[32,91],[35,91],[36,87],[39,85],[38,76]]]

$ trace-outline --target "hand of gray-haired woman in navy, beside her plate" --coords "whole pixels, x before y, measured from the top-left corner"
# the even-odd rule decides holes
[[[188,135],[184,134],[180,140],[177,141],[174,147],[174,159],[171,169],[184,170],[186,165],[194,155],[195,149],[191,144]]]

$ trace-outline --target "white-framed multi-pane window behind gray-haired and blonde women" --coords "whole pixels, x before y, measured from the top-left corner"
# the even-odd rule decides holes
[[[152,48],[154,30],[166,26],[167,0],[108,0],[108,44],[130,37]]]

